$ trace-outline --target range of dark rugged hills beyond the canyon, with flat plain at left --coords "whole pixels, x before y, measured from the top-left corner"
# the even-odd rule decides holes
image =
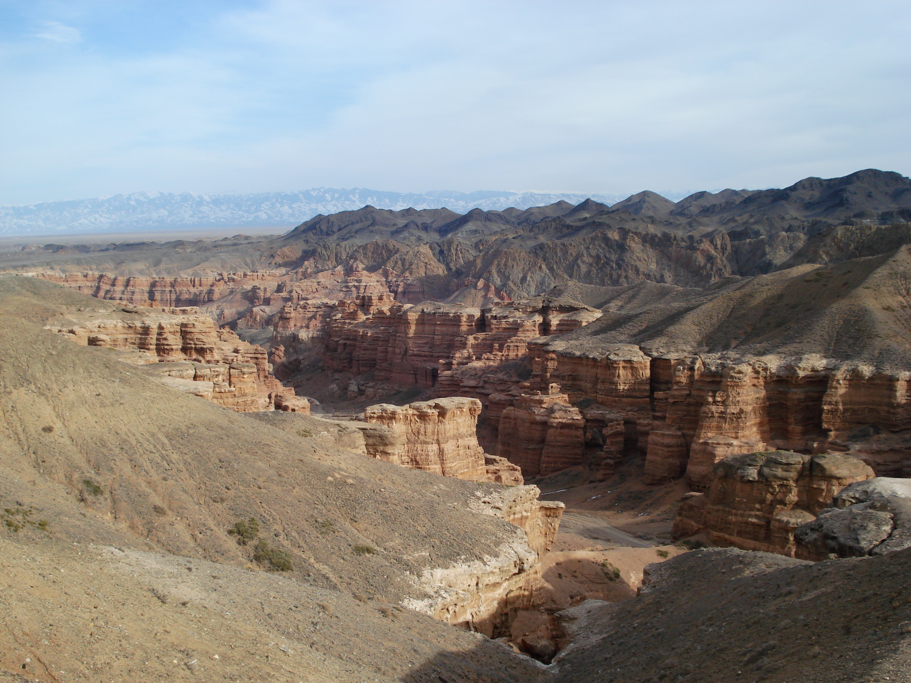
[[[292,271],[292,279],[385,268],[433,299],[481,280],[514,299],[573,280],[704,287],[895,250],[911,234],[907,223],[893,222],[911,216],[909,202],[911,180],[867,169],[804,178],[785,189],[700,192],[676,204],[640,192],[613,207],[588,199],[577,207],[558,202],[465,216],[364,207],[318,216],[280,239],[74,247],[78,253],[55,247],[4,253],[0,268],[147,277],[272,270],[276,277]]]

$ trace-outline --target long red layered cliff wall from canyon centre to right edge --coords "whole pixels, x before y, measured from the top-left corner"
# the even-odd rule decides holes
[[[908,373],[818,356],[756,359],[633,344],[591,347],[533,336],[536,326],[540,334],[562,330],[562,323],[550,312],[556,306],[544,315],[544,301],[532,303],[483,311],[425,304],[396,311],[391,301],[382,306],[356,301],[327,328],[329,338],[338,341],[327,342],[326,362],[353,376],[373,372],[387,386],[432,386],[438,396],[477,398],[486,406],[486,424],[494,433],[502,430],[500,454],[527,475],[540,472],[542,458],[546,471],[578,464],[599,439],[612,443],[599,454],[606,464],[601,475],[608,476],[623,453],[639,451],[646,455],[647,480],[686,476],[697,489],[711,484],[712,468],[724,457],[773,449],[850,452],[877,474],[911,473],[911,437],[890,436],[908,430]],[[566,316],[581,325],[590,314],[577,308]],[[473,327],[484,331],[471,334]],[[521,362],[531,365],[525,381],[517,380]],[[534,390],[548,395],[553,383],[565,399],[523,398],[536,395]],[[370,391],[369,382],[355,381],[349,398]],[[558,403],[564,406],[560,414],[545,417]],[[582,404],[591,410],[580,409],[579,415],[576,406]],[[609,439],[603,421],[589,417],[597,411],[613,416]],[[578,438],[579,417],[583,438]],[[624,425],[622,447],[618,422]],[[885,432],[875,443],[857,436],[867,424]],[[517,441],[520,425],[527,430]],[[547,464],[545,451],[555,454],[555,464]]]

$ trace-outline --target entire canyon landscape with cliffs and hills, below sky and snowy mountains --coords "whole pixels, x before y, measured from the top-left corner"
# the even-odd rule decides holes
[[[879,619],[898,666],[907,184],[365,207],[262,241],[5,255],[0,542],[56,597],[4,598],[3,670],[21,650],[33,678],[94,675],[32,637],[83,610],[104,615],[73,627],[83,649],[122,622],[162,676],[557,683],[619,662],[606,680],[644,681],[723,660],[783,681],[793,648],[759,630],[834,661],[833,609]],[[850,603],[861,575],[892,607]],[[184,630],[153,645],[166,624]]]

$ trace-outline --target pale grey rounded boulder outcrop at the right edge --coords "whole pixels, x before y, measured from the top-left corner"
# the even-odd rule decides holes
[[[845,486],[794,539],[796,556],[806,560],[905,550],[911,547],[911,481],[875,477]]]

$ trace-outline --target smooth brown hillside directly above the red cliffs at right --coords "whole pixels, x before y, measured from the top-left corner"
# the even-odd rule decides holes
[[[580,352],[614,343],[655,350],[808,354],[904,368],[911,352],[911,250],[803,265],[696,290],[640,282],[569,283],[553,296],[604,315],[561,339]]]

